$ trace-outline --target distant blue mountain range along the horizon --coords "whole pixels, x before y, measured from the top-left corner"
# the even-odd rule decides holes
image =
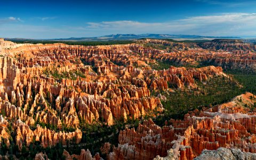
[[[156,38],[156,39],[241,39],[240,37],[215,37],[215,36],[199,36],[199,35],[169,35],[169,34],[116,34],[99,37],[71,37],[57,39],[34,39],[34,40],[50,40],[50,41],[115,41],[115,40],[134,40],[141,38]],[[5,38],[9,41],[26,41],[33,39],[26,38]]]

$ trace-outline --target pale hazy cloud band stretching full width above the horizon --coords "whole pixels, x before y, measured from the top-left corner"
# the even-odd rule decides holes
[[[84,26],[44,26],[21,23],[20,18],[0,18],[2,37],[67,38],[108,34],[189,34],[203,36],[256,36],[256,13],[222,13],[166,22],[132,20],[84,22]],[[14,23],[15,22],[15,23]]]

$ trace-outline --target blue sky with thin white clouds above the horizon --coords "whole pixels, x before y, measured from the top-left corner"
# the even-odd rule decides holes
[[[147,33],[256,38],[256,1],[0,0],[4,38]]]

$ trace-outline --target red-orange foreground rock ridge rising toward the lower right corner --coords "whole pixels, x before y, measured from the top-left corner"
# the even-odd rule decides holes
[[[203,151],[197,158],[202,159],[213,157],[213,153],[219,156],[220,147],[229,148],[229,152],[238,148],[239,154],[255,157],[247,152],[256,153],[256,112],[245,107],[254,106],[255,98],[247,92],[222,105],[192,111],[183,121],[171,119],[171,125],[162,128],[151,120],[144,121],[136,131],[120,132],[119,145],[109,154],[110,159],[193,159],[204,149],[217,149]]]

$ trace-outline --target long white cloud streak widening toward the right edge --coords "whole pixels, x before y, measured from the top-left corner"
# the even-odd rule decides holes
[[[88,22],[84,29],[106,33],[159,33],[199,35],[256,35],[256,13],[225,13],[189,17],[169,22]]]

